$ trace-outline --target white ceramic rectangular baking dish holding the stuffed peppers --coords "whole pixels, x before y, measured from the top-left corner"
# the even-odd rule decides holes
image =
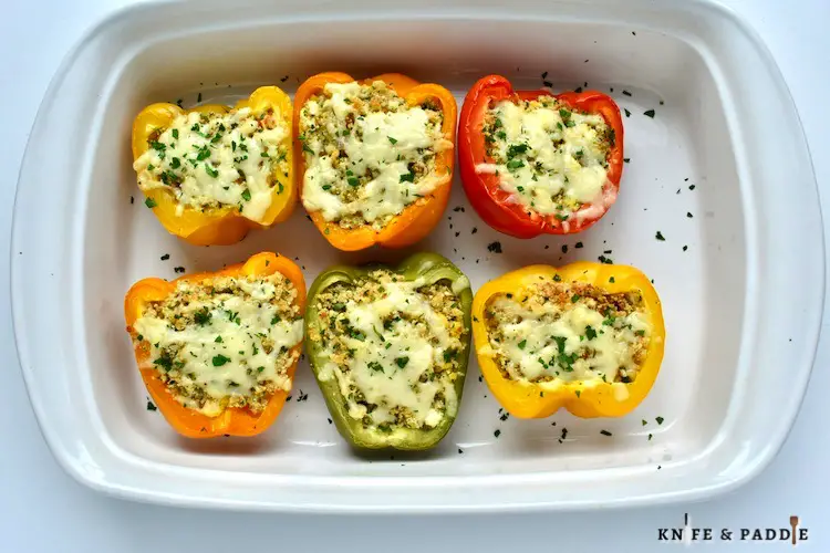
[[[758,38],[705,1],[344,6],[141,6],[100,24],[63,63],[21,170],[12,260],[20,361],[61,465],[121,497],[339,512],[631,505],[703,498],[757,474],[807,385],[824,267],[810,157]],[[267,83],[292,92],[324,70],[409,73],[450,87],[459,103],[487,73],[517,87],[540,86],[547,71],[556,87],[613,88],[631,112],[631,163],[618,204],[596,227],[508,239],[478,219],[456,181],[447,217],[411,251],[444,253],[474,289],[525,264],[593,260],[605,250],[643,269],[663,298],[668,337],[657,383],[634,414],[502,421],[475,359],[453,431],[422,455],[353,453],[328,422],[305,363],[294,399],[259,438],[185,440],[146,410],[122,312],[135,280],[276,250],[299,257],[310,282],[334,262],[405,254],[338,252],[301,208],[240,244],[190,247],[143,206],[128,137],[144,105],[190,105],[199,93],[226,101]],[[496,240],[500,254],[487,248]],[[169,261],[159,259],[165,253]],[[298,403],[300,390],[308,399]]]

